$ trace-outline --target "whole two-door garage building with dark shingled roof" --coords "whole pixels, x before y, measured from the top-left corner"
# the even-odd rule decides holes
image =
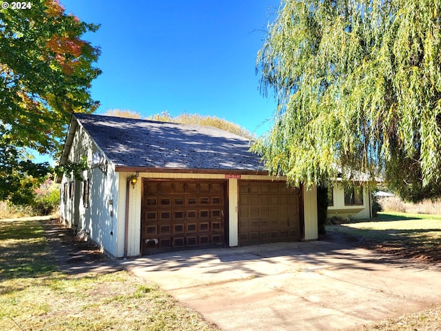
[[[316,189],[269,177],[243,137],[190,126],[73,114],[61,165],[61,220],[112,257],[318,238]]]

